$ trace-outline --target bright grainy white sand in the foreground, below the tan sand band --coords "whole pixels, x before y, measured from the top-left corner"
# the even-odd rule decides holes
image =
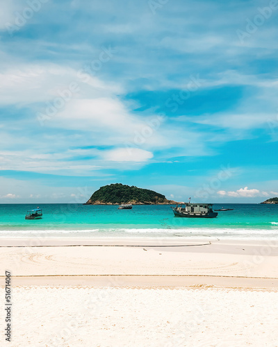
[[[15,287],[6,345],[277,346],[277,304],[274,291]]]

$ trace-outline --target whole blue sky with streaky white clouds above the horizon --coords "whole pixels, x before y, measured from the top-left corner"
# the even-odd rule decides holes
[[[6,1],[0,203],[278,196],[278,1]]]

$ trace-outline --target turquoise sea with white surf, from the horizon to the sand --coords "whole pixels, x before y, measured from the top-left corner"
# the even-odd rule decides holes
[[[0,237],[247,237],[278,236],[278,205],[222,204],[234,208],[215,219],[174,217],[169,205],[117,206],[41,204],[42,219],[25,220],[27,210],[37,205],[0,204]]]

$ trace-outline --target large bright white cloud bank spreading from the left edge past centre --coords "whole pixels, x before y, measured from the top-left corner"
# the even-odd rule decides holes
[[[168,124],[167,117],[158,119],[152,112],[132,112],[134,105],[119,97],[123,92],[120,85],[96,77],[80,78],[79,71],[54,64],[21,65],[3,72],[0,78],[0,105],[19,104],[19,108],[24,105],[30,110],[27,117],[1,133],[1,148],[9,149],[13,144],[13,149],[21,150],[1,151],[0,169],[84,176],[96,169],[118,167],[116,162],[146,163],[156,149],[172,148],[171,156],[210,153],[197,131]],[[74,82],[79,92],[54,110],[56,98],[67,95],[67,88]],[[41,115],[46,117],[42,124]],[[1,126],[5,128],[7,122]],[[20,136],[13,127],[22,130]],[[30,129],[32,136],[28,136]],[[54,130],[59,135],[52,135]],[[69,149],[72,146],[114,149]],[[125,146],[129,148],[127,154]],[[78,157],[81,159],[76,160]],[[166,158],[165,154],[156,158],[165,159],[167,154]]]

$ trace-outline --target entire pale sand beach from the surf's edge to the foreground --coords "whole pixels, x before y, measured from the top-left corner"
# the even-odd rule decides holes
[[[13,275],[6,346],[278,346],[275,244],[34,242],[1,239],[1,273]]]

